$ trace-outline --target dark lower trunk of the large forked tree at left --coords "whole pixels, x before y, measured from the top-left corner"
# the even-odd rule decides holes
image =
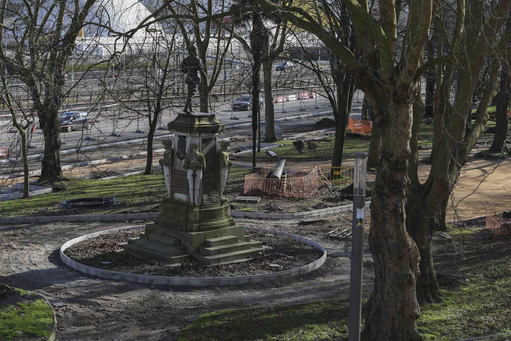
[[[43,133],[44,133],[44,156],[41,161],[41,176],[39,180],[54,181],[62,178],[62,167],[60,165],[60,122],[58,120],[58,112],[56,106],[53,108],[45,108]]]

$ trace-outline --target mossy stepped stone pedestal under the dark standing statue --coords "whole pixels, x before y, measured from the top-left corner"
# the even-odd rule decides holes
[[[126,252],[137,257],[179,263],[194,257],[205,264],[220,264],[249,258],[262,251],[262,243],[245,236],[243,226],[230,216],[230,206],[219,200],[218,134],[225,125],[212,114],[180,114],[168,124],[174,131],[170,197],[160,204],[154,223],[144,233],[122,243]],[[192,145],[205,158],[200,183],[190,188],[186,155]],[[193,205],[190,190],[198,189],[198,205]],[[191,204],[192,202],[192,204]]]

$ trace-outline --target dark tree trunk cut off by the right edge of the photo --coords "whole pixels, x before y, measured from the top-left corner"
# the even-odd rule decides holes
[[[511,59],[511,58],[509,58]],[[495,111],[495,135],[490,151],[494,153],[502,153],[505,148],[508,133],[507,110],[509,107],[509,62],[511,60],[502,60],[502,69],[500,70],[500,89],[495,97],[497,108]]]

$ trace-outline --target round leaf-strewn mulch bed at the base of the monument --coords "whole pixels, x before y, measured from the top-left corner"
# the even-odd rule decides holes
[[[68,247],[64,254],[81,264],[100,269],[155,276],[176,277],[227,277],[271,273],[292,269],[314,262],[321,252],[313,246],[302,244],[292,238],[280,235],[266,236],[267,232],[245,230],[252,239],[263,242],[263,252],[257,253],[246,262],[227,265],[204,266],[195,260],[180,266],[154,263],[138,259],[122,250],[117,244],[137,237],[143,230],[130,230],[87,239]],[[102,264],[110,261],[111,264]],[[278,264],[279,267],[270,267]]]

